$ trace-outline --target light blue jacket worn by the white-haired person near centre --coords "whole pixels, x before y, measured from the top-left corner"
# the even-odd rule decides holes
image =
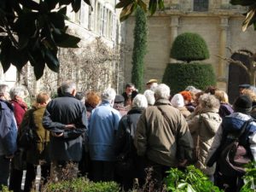
[[[89,150],[91,160],[115,160],[114,134],[121,115],[109,102],[103,101],[90,115]]]

